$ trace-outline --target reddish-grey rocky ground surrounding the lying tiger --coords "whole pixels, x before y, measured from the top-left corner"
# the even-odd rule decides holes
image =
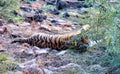
[[[54,1],[26,3],[21,0],[21,10],[16,12],[16,16],[24,17],[24,21],[18,23],[10,20],[4,23],[0,20],[0,55],[5,54],[3,58],[8,57],[7,60],[0,57],[0,60],[14,64],[8,65],[5,71],[0,67],[0,74],[114,74],[108,73],[109,67],[105,67],[106,64],[101,64],[100,57],[104,55],[104,47],[80,53],[77,50],[57,51],[26,43],[10,43],[14,38],[29,37],[39,32],[70,32],[85,24],[76,19],[97,14],[96,11],[93,11],[96,12],[94,15],[88,12],[92,5],[84,5],[84,0],[62,0],[58,5]],[[37,9],[38,7],[40,8]]]

